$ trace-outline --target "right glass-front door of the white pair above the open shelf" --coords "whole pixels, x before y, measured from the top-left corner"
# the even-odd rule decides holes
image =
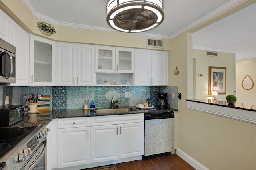
[[[116,48],[116,73],[134,73],[134,49]]]

